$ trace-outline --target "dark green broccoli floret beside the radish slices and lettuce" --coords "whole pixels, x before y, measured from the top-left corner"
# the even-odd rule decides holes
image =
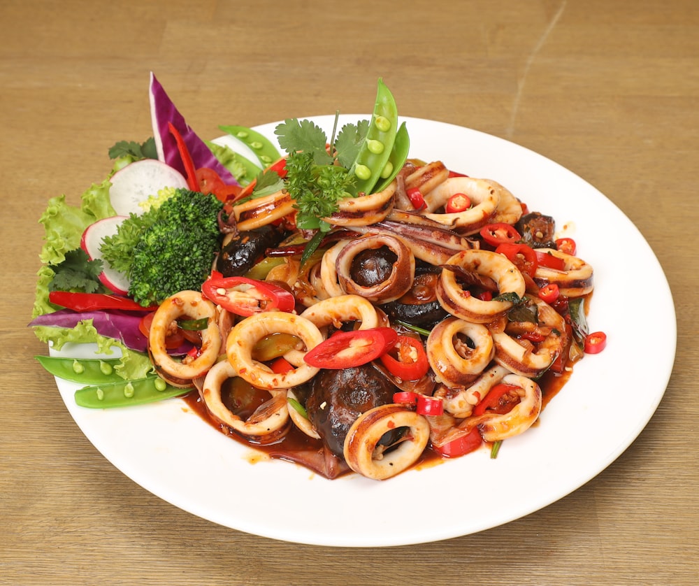
[[[221,244],[222,206],[215,196],[177,190],[152,210],[154,222],[132,250],[129,295],[148,306],[179,291],[199,290]]]

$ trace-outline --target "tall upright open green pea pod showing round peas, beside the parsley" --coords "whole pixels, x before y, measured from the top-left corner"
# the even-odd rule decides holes
[[[374,112],[349,173],[356,176],[355,193],[373,193],[393,152],[398,133],[398,107],[391,91],[379,79]]]

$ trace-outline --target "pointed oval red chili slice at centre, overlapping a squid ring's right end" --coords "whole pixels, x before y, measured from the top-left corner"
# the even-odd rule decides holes
[[[349,369],[380,357],[397,339],[396,330],[389,327],[338,331],[311,348],[303,359],[317,369]]]

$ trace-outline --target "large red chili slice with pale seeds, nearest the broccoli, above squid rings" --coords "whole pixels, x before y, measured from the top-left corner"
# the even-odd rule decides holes
[[[201,286],[208,299],[236,315],[247,317],[263,311],[292,311],[294,295],[283,287],[247,277],[224,277],[213,271]]]

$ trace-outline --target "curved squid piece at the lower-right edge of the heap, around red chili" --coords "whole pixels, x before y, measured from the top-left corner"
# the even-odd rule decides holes
[[[508,374],[502,380],[505,385],[514,385],[520,401],[507,413],[484,413],[477,417],[468,417],[463,424],[473,428],[478,426],[485,441],[500,441],[517,436],[527,429],[541,413],[541,389],[533,380],[516,374]]]

